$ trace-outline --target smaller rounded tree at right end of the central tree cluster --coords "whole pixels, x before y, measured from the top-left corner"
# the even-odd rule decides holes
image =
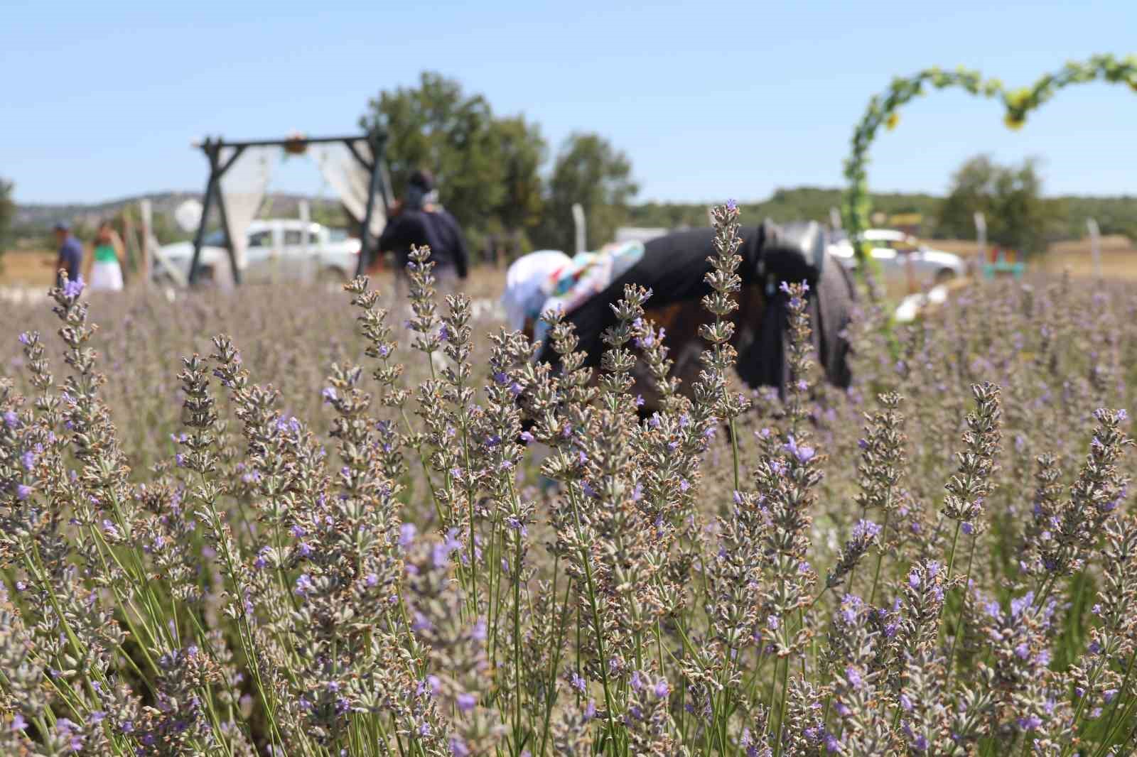
[[[629,201],[639,191],[631,173],[628,156],[603,136],[572,134],[553,167],[541,241],[548,247],[573,250],[575,202],[584,208],[588,248],[612,241],[616,227],[629,217]]]

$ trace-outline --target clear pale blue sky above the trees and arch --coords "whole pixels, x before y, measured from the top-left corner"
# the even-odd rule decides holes
[[[356,128],[424,68],[524,113],[555,148],[597,131],[641,199],[762,199],[840,183],[853,124],[894,75],[966,65],[1028,84],[1137,51],[1137,1],[26,2],[0,11],[0,175],[20,202],[200,189],[190,142]],[[1051,193],[1137,193],[1137,97],[1069,89],[1021,132],[939,92],[873,150],[874,190],[941,191],[965,158],[1044,158]],[[271,190],[319,192],[289,161]]]

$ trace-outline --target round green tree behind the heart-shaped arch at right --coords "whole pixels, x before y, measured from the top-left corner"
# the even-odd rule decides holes
[[[988,156],[971,158],[952,176],[952,189],[940,203],[937,235],[974,235],[974,214],[987,219],[987,238],[1023,255],[1039,252],[1065,216],[1061,201],[1041,196],[1038,161],[1001,166]]]

